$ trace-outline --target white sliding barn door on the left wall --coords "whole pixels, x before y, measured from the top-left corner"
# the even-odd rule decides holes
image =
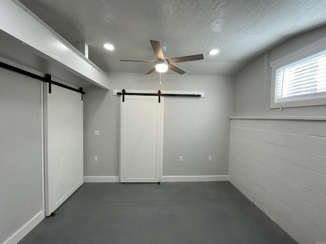
[[[72,90],[44,84],[45,214],[83,184],[83,101]]]

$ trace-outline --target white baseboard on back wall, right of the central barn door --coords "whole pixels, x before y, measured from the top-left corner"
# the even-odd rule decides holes
[[[228,181],[229,175],[161,176],[161,182]]]

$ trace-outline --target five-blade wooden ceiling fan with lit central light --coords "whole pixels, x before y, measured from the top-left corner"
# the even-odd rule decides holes
[[[156,60],[155,61],[149,61],[149,60],[128,60],[128,59],[120,59],[120,61],[124,62],[143,62],[143,63],[155,63],[155,66],[153,66],[149,71],[147,71],[146,75],[151,74],[154,70],[156,70],[159,73],[164,73],[168,69],[173,70],[180,75],[184,74],[185,71],[176,67],[173,65],[173,63],[180,63],[180,62],[187,62],[187,61],[193,61],[193,60],[200,60],[204,59],[203,54],[196,54],[196,55],[190,55],[190,56],[183,56],[183,57],[172,57],[167,58],[164,57],[163,52],[166,51],[165,46],[161,46],[161,43],[159,41],[153,41],[149,40],[152,48],[154,50]]]

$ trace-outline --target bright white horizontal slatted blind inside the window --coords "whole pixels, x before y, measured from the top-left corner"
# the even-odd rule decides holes
[[[276,70],[276,103],[320,97],[326,97],[326,50]]]

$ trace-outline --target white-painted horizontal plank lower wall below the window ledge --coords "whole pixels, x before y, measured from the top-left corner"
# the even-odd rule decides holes
[[[230,181],[299,243],[326,241],[326,121],[231,119]]]

